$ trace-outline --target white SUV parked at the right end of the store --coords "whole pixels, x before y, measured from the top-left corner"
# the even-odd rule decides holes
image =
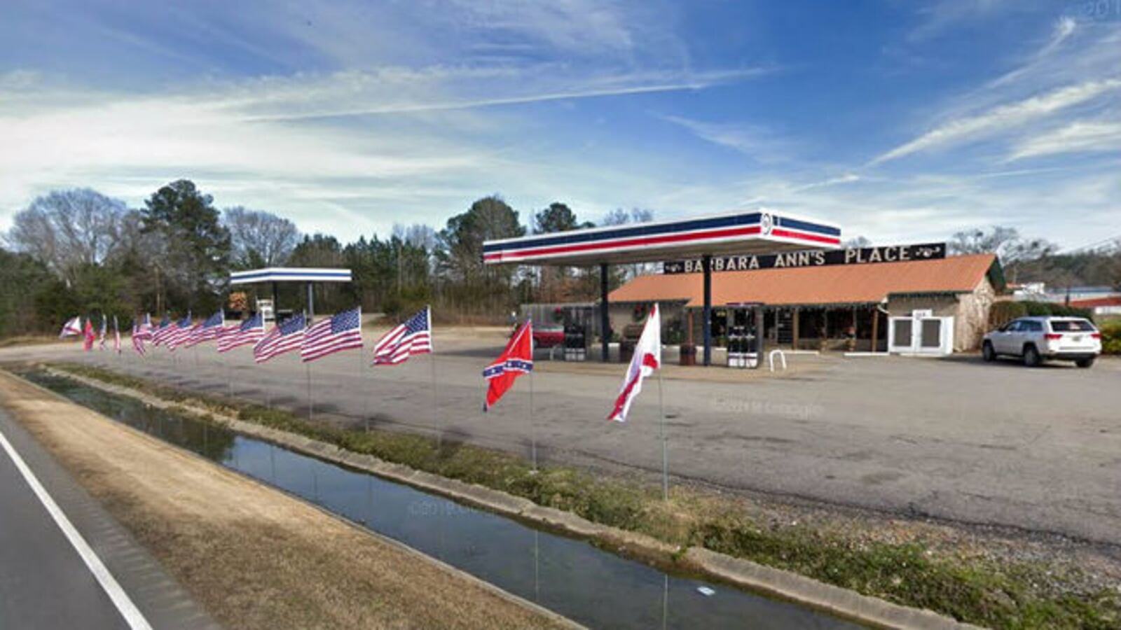
[[[1102,352],[1102,333],[1082,317],[1020,317],[981,342],[981,355],[992,361],[999,355],[1019,356],[1034,368],[1045,359],[1074,361],[1080,368],[1094,364]]]

